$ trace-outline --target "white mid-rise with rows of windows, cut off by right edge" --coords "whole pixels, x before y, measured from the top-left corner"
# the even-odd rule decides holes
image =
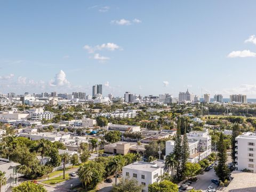
[[[256,173],[256,133],[247,132],[236,137],[236,167]]]

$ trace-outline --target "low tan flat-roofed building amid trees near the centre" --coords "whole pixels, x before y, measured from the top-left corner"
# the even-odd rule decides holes
[[[121,155],[126,155],[127,153],[137,152],[137,151],[140,153],[144,153],[145,150],[146,150],[145,144],[138,146],[137,143],[135,142],[119,141],[119,142],[110,143],[109,145],[104,146],[105,153],[121,154]]]

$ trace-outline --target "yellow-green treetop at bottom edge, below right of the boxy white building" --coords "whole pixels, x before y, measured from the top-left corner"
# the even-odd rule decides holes
[[[171,181],[154,182],[148,186],[148,192],[178,192],[178,185]]]

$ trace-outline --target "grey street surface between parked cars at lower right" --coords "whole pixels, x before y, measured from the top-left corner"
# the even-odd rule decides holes
[[[191,184],[191,187],[194,187],[196,190],[207,189],[210,185],[213,183],[211,182],[211,179],[218,179],[217,175],[214,172],[214,169],[211,169],[210,171],[204,172],[204,174],[197,175],[197,181],[193,182]],[[213,186],[214,187],[214,186]]]

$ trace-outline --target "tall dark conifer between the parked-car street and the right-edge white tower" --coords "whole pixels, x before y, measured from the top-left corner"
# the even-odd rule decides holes
[[[215,173],[218,175],[219,179],[224,182],[228,178],[229,170],[226,165],[227,162],[227,149],[223,139],[223,133],[220,133],[220,140],[218,142],[218,165],[214,167]]]

